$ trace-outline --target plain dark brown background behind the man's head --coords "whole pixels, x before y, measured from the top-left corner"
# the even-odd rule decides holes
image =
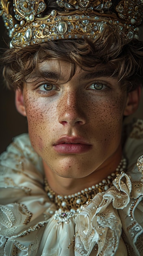
[[[0,48],[6,47],[6,43],[3,40],[5,33],[6,30],[2,22],[2,17],[0,17]],[[141,39],[143,39],[143,29]],[[134,116],[143,119],[143,92],[139,110]],[[126,122],[130,121],[130,119],[132,117],[126,119]],[[0,153],[6,150],[13,137],[27,132],[27,130],[26,117],[22,117],[15,108],[14,92],[4,87],[2,76],[0,76]]]

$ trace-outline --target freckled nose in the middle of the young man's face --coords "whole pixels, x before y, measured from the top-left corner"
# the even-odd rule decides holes
[[[86,123],[85,104],[79,92],[68,92],[58,104],[58,121],[60,124],[70,126]]]

